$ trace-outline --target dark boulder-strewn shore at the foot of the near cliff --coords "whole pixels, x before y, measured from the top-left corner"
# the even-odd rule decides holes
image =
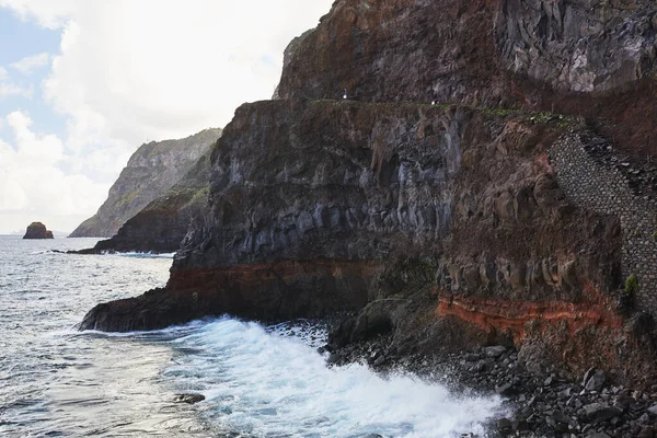
[[[542,378],[527,370],[512,346],[434,356],[395,355],[388,351],[391,341],[390,335],[379,335],[339,349],[326,345],[320,351],[331,351],[327,362],[332,366],[361,362],[383,374],[411,372],[458,394],[502,396],[504,416],[485,425],[489,438],[657,436],[657,376],[646,377],[634,388],[615,384],[595,368],[580,381],[558,372]]]

